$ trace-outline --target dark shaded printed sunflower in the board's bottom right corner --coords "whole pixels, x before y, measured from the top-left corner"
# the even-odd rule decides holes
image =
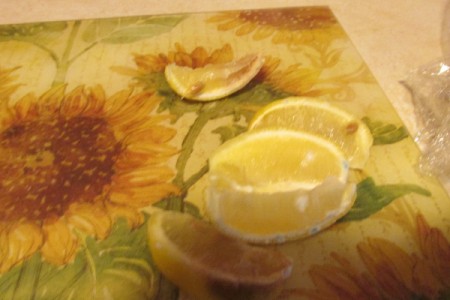
[[[311,299],[447,299],[450,291],[450,242],[423,215],[416,217],[419,253],[393,242],[369,237],[357,246],[367,271],[359,271],[333,252],[335,264],[313,266],[315,290],[293,289],[285,295]]]

